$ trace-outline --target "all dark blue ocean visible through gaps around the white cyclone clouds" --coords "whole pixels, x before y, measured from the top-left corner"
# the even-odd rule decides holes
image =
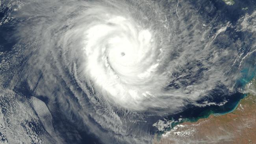
[[[210,116],[210,114],[226,114],[232,112],[236,107],[239,101],[247,96],[246,93],[243,93],[243,89],[245,89],[245,86],[248,82],[250,82],[255,76],[256,76],[256,52],[253,52],[255,49],[255,38],[256,38],[256,33],[255,31],[250,31],[250,30],[245,30],[245,31],[239,31],[237,30],[237,25],[239,25],[241,22],[239,19],[245,15],[252,15],[254,11],[256,10],[256,1],[255,0],[234,0],[235,4],[232,6],[227,6],[224,4],[222,0],[190,0],[189,4],[191,4],[191,7],[194,9],[197,9],[197,14],[200,15],[204,19],[205,24],[211,24],[211,27],[217,27],[219,23],[212,23],[212,21],[216,22],[230,22],[232,26],[228,27],[225,31],[225,35],[229,37],[229,39],[232,39],[232,41],[229,41],[228,43],[224,43],[221,38],[216,39],[213,43],[216,44],[216,46],[219,47],[225,47],[225,46],[231,46],[233,43],[236,41],[241,41],[241,45],[234,47],[234,51],[236,51],[239,55],[242,55],[246,57],[247,54],[251,53],[250,56],[246,57],[245,60],[243,60],[243,65],[237,69],[234,66],[233,69],[231,70],[230,74],[234,74],[234,71],[239,71],[239,73],[236,72],[237,75],[239,75],[238,79],[234,80],[234,90],[232,92],[229,92],[229,89],[222,83],[217,85],[215,89],[212,89],[210,93],[207,96],[202,96],[200,100],[197,100],[196,103],[198,105],[204,104],[204,102],[208,103],[223,103],[223,105],[206,105],[204,107],[195,105],[194,103],[189,103],[189,100],[187,101],[186,107],[182,107],[182,109],[178,112],[172,113],[171,115],[165,115],[165,116],[155,116],[152,114],[151,110],[148,112],[146,111],[145,113],[140,113],[141,115],[145,115],[144,121],[143,122],[137,122],[136,124],[128,123],[129,130],[127,130],[125,135],[133,137],[134,133],[137,134],[139,133],[138,131],[135,131],[136,126],[139,127],[140,129],[147,129],[147,133],[149,135],[154,135],[157,133],[162,133],[163,131],[158,131],[156,127],[153,126],[154,123],[156,123],[158,120],[174,120],[176,123],[173,123],[173,126],[175,124],[178,124],[178,121],[180,118],[183,120],[188,120],[188,121],[197,121],[199,118],[206,118]],[[154,0],[155,3],[161,3],[162,5],[166,3],[166,7],[169,7],[169,3],[167,0],[161,0],[157,1]],[[19,15],[19,11],[14,11],[13,9],[17,8],[15,6],[11,7],[8,5],[8,1],[1,1],[0,2],[0,92],[2,92],[1,96],[3,98],[0,99],[0,106],[2,110],[2,116],[4,117],[4,121],[6,121],[6,126],[11,123],[11,112],[9,109],[12,109],[12,105],[14,102],[12,100],[9,100],[7,97],[7,93],[5,90],[11,90],[13,91],[14,98],[17,98],[17,101],[20,103],[26,103],[26,105],[29,105],[30,108],[32,109],[31,111],[35,111],[33,108],[33,105],[31,102],[29,102],[32,97],[36,97],[42,102],[46,104],[46,106],[49,109],[49,112],[52,115],[52,125],[55,129],[56,132],[56,137],[60,137],[63,139],[61,142],[64,143],[73,143],[73,144],[104,144],[104,143],[109,143],[109,142],[123,142],[123,139],[119,140],[119,137],[122,137],[121,132],[117,134],[117,139],[114,138],[115,136],[115,131],[111,131],[106,129],[105,125],[101,126],[101,121],[98,122],[96,121],[96,118],[88,114],[88,121],[90,121],[91,125],[95,125],[97,127],[97,130],[91,130],[90,126],[84,125],[82,121],[84,121],[82,118],[78,116],[76,112],[80,112],[81,110],[78,111],[72,111],[69,109],[66,109],[62,104],[65,103],[65,105],[68,105],[69,107],[76,107],[72,103],[70,103],[68,100],[65,102],[59,102],[59,99],[57,98],[48,98],[47,94],[50,92],[47,92],[48,89],[41,89],[41,80],[45,79],[44,77],[44,70],[34,70],[33,72],[34,75],[37,75],[37,80],[35,80],[35,83],[30,82],[31,79],[34,79],[34,77],[30,77],[30,74],[28,73],[27,70],[27,63],[30,62],[30,57],[36,57],[36,52],[33,51],[32,49],[26,49],[25,47],[22,47],[22,44],[24,45],[29,45],[28,41],[22,41],[26,37],[20,37],[20,35],[31,35],[31,33],[26,33],[29,31],[19,31],[17,29],[17,26],[20,26],[20,23],[28,20],[23,17],[21,18],[15,18],[12,17],[12,15]],[[182,6],[182,2],[179,3]],[[243,8],[245,10],[243,10]],[[26,13],[25,13],[26,14]],[[38,16],[41,17],[41,16]],[[255,17],[254,17],[255,18]],[[189,18],[188,18],[189,19]],[[253,21],[253,19],[249,19],[248,22]],[[28,24],[29,24],[28,20]],[[26,24],[26,23],[22,23]],[[38,22],[40,24],[40,22]],[[214,25],[216,24],[216,26]],[[252,23],[255,24],[255,23]],[[32,25],[37,25],[37,23],[33,23]],[[249,24],[250,25],[250,24]],[[64,28],[63,28],[64,29]],[[211,32],[214,34],[218,30],[213,29]],[[17,32],[23,33],[17,35]],[[31,38],[30,41],[34,41],[35,39]],[[22,43],[23,42],[23,43]],[[31,43],[31,45],[35,46],[37,44]],[[22,50],[26,50],[26,55],[22,55]],[[20,53],[20,54],[17,54]],[[47,59],[47,58],[46,58]],[[49,58],[49,61],[54,61],[53,59]],[[225,63],[225,59],[223,58],[222,63]],[[53,63],[51,64],[52,66],[54,65]],[[188,64],[189,65],[189,64]],[[198,64],[200,65],[200,64]],[[54,66],[53,66],[54,67]],[[63,66],[65,67],[65,66]],[[185,67],[186,69],[189,69],[189,66]],[[53,68],[55,69],[55,67]],[[202,68],[198,70],[198,74],[191,74],[187,76],[186,78],[189,79],[191,83],[182,83],[182,86],[188,86],[192,85],[193,83],[196,83],[193,81],[193,79],[200,79],[202,77],[202,72],[204,72],[206,69]],[[68,71],[68,70],[67,70]],[[184,70],[186,71],[186,70]],[[189,70],[188,70],[189,71]],[[54,79],[54,73],[52,72],[52,78]],[[66,72],[67,73],[67,72]],[[57,75],[57,74],[56,74]],[[182,75],[182,72],[177,75]],[[226,74],[228,75],[228,74]],[[79,85],[75,82],[73,77],[69,74],[65,75],[69,77],[70,83],[74,83],[74,87],[77,87],[76,92],[85,95],[83,93],[83,90],[81,88],[78,88]],[[74,96],[75,93],[71,89],[69,89],[69,83],[67,83],[65,80],[61,79],[62,77],[58,77],[60,80],[57,80],[55,85],[61,85],[59,86],[59,89],[52,90],[52,93],[54,96],[58,95],[61,93],[60,91],[63,90],[62,86],[67,88],[67,90],[63,90],[63,95],[69,95],[70,98],[69,100],[78,102],[79,100],[76,99]],[[58,79],[57,78],[57,79]],[[13,81],[15,79],[15,81]],[[34,87],[30,87],[30,85],[34,85]],[[48,84],[45,84],[48,85]],[[175,82],[169,83],[169,85],[166,87],[166,89],[179,89],[179,86],[176,85]],[[38,92],[38,89],[40,92]],[[45,93],[43,93],[45,92]],[[39,95],[39,93],[41,95]],[[94,93],[93,90],[91,90],[91,93]],[[5,97],[4,97],[5,96]],[[11,99],[11,97],[10,97]],[[89,98],[85,98],[85,101],[89,103]],[[97,101],[97,99],[95,100]],[[98,100],[100,101],[100,100]],[[16,101],[15,101],[16,102]],[[17,104],[17,103],[16,103]],[[82,107],[82,106],[77,106],[77,107]],[[94,107],[91,106],[90,109],[93,109]],[[71,108],[70,108],[71,109]],[[89,108],[88,108],[89,109]],[[89,110],[90,110],[89,109]],[[64,111],[64,112],[63,112]],[[100,110],[99,110],[100,111]],[[32,113],[32,112],[31,112]],[[122,112],[117,112],[117,115],[122,115]],[[134,114],[134,113],[132,113]],[[39,117],[39,114],[35,113]],[[138,114],[139,115],[139,114]],[[15,116],[15,115],[14,115]],[[137,115],[134,114],[134,117]],[[17,116],[18,117],[18,116]],[[129,118],[129,116],[126,116],[125,118]],[[139,117],[139,116],[138,116]],[[33,118],[32,118],[33,119]],[[35,119],[35,118],[34,118]],[[33,119],[33,120],[34,120]],[[135,119],[135,118],[134,118]],[[32,121],[33,121],[32,120]],[[182,121],[184,122],[184,121]],[[27,122],[29,123],[29,122]],[[107,123],[107,121],[103,121],[102,123]],[[33,127],[33,131],[37,133],[38,135],[47,135],[48,138],[50,138],[51,134],[45,132],[46,128],[43,126],[43,124],[40,124],[40,120],[35,120],[31,122],[30,124]],[[111,124],[109,124],[111,125]],[[26,126],[23,126],[25,127]],[[172,127],[167,128],[171,129]],[[134,129],[134,131],[132,130]],[[101,133],[110,133],[109,135],[113,135],[113,137],[109,138],[108,142],[104,141],[104,138],[106,138],[109,135],[104,135],[104,138],[101,139],[99,137],[101,134],[98,134],[97,131],[101,131]],[[121,130],[120,130],[121,131]],[[134,133],[132,133],[134,132]],[[0,131],[2,133],[2,131]],[[7,134],[6,134],[7,135]],[[55,136],[54,136],[55,137]],[[110,136],[109,136],[110,137]],[[141,136],[142,137],[142,136]],[[129,137],[130,138],[130,137]],[[124,138],[124,140],[126,140]],[[4,140],[3,140],[4,141]],[[150,142],[150,140],[148,140]],[[0,140],[1,142],[1,140]],[[55,141],[49,141],[54,143]],[[131,143],[132,141],[127,141],[124,143]],[[143,141],[145,142],[145,141]]]

